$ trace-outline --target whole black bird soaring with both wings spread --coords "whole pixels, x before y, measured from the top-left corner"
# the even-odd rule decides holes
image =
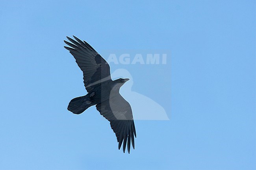
[[[74,114],[81,114],[87,108],[96,105],[96,109],[110,122],[111,128],[117,136],[119,150],[123,143],[125,153],[126,144],[130,154],[130,146],[134,148],[136,137],[132,108],[121,96],[119,89],[129,79],[112,80],[108,62],[104,60],[87,42],[68,38],[64,46],[76,59],[76,63],[83,71],[83,83],[87,95],[76,97],[69,102],[68,110]]]

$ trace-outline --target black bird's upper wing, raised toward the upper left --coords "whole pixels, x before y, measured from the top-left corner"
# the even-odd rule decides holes
[[[76,59],[76,63],[83,71],[83,83],[87,92],[91,92],[95,87],[100,86],[101,82],[111,80],[110,67],[108,62],[102,58],[95,49],[87,42],[78,39],[68,38],[70,42],[64,42],[70,47],[64,46]]]

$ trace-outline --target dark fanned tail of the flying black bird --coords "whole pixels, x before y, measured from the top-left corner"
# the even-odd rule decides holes
[[[74,114],[81,114],[87,108],[93,106],[87,96],[76,97],[69,102],[68,110]]]

